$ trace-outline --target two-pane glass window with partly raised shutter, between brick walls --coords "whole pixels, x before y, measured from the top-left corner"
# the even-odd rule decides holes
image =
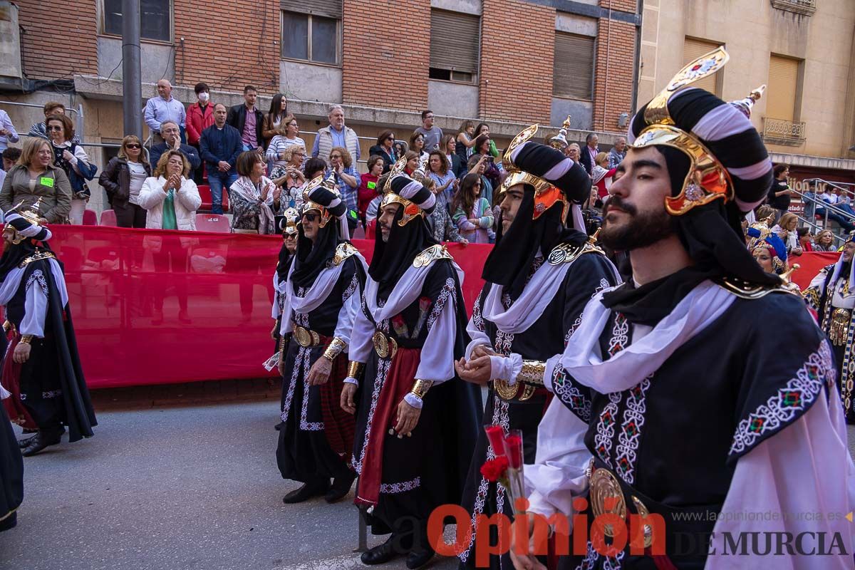
[[[281,0],[282,57],[339,64],[341,0]]]

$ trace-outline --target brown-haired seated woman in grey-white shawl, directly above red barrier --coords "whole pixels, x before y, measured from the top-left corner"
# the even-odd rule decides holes
[[[274,232],[273,205],[280,198],[282,189],[268,179],[267,163],[255,150],[247,150],[238,156],[239,178],[228,193],[232,208],[233,233]]]

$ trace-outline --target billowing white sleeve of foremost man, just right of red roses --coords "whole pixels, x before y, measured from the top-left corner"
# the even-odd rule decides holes
[[[573,520],[573,498],[587,491],[591,452],[585,447],[586,431],[584,421],[552,398],[538,426],[534,465],[523,471],[529,510],[544,516],[562,513]]]

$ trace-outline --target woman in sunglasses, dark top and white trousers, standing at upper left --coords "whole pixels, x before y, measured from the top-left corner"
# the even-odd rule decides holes
[[[62,168],[71,184],[71,211],[68,220],[72,224],[83,223],[83,211],[89,202],[90,190],[86,180],[95,178],[97,167],[80,144],[74,144],[74,125],[66,115],[50,115],[44,120],[45,129],[53,147],[54,166]]]

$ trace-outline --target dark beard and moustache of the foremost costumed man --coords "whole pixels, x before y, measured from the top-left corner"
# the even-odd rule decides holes
[[[629,216],[625,226],[612,228],[607,220],[610,207],[622,209]],[[658,212],[639,214],[632,204],[623,203],[620,197],[611,197],[603,215],[603,229],[599,240],[610,250],[631,251],[657,243],[677,232],[677,220],[663,207]]]

